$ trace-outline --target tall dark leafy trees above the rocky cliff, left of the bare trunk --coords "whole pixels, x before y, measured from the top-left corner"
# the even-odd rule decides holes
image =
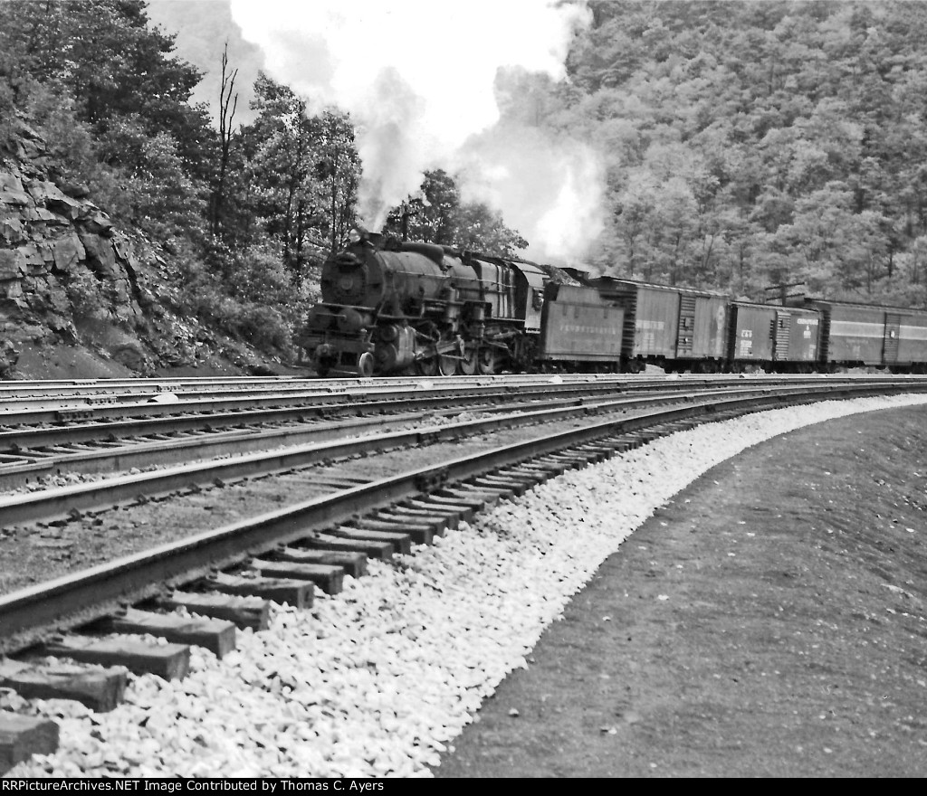
[[[171,57],[141,0],[0,4],[0,111],[45,133],[65,177],[155,234],[194,234],[210,126],[188,103],[200,75]]]

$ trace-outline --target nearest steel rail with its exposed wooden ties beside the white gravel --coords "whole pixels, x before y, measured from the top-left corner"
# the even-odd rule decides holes
[[[106,709],[118,701],[125,687],[124,671],[104,669],[94,670],[97,674],[93,676],[85,672],[77,677],[64,676],[60,667],[32,663],[36,653],[94,663],[121,662],[135,671],[183,676],[190,643],[222,654],[234,643],[229,639],[234,638],[235,624],[262,626],[260,617],[266,617],[268,611],[266,600],[308,604],[314,588],[332,593],[340,588],[346,573],[361,575],[365,557],[388,559],[394,551],[409,550],[413,543],[428,543],[469,519],[473,512],[521,494],[569,467],[598,461],[705,417],[721,418],[809,399],[880,394],[897,391],[901,386],[906,391],[927,388],[922,380],[844,380],[819,383],[813,393],[808,393],[807,385],[799,387],[794,383],[789,389],[747,389],[739,395],[694,398],[682,405],[636,411],[633,416],[625,411],[620,416],[606,412],[581,423],[574,418],[571,428],[554,428],[551,415],[535,417],[533,422],[544,422],[548,433],[510,438],[491,449],[486,449],[484,441],[464,451],[464,455],[453,455],[461,453],[459,446],[456,450],[446,446],[434,461],[398,474],[395,462],[386,460],[388,475],[382,468],[376,472],[352,463],[333,465],[331,460],[338,458],[334,455],[323,456],[323,469],[310,468],[305,473],[283,462],[276,469],[290,472],[284,481],[274,479],[265,485],[265,497],[273,500],[271,496],[279,495],[283,484],[290,492],[304,496],[294,505],[218,528],[201,529],[157,549],[139,551],[6,595],[0,600],[3,651],[18,657],[0,669],[0,681],[27,695],[47,696],[57,689],[57,693],[70,693],[87,703],[94,702],[98,709]],[[536,412],[545,411],[568,410]],[[499,418],[475,423],[491,422],[498,423]],[[435,436],[439,439],[445,433],[469,437],[489,430],[485,425],[463,426],[436,429]],[[378,444],[382,446],[383,440]],[[361,445],[342,450],[340,456],[364,452],[369,451]],[[229,480],[242,477],[241,473],[230,473],[225,471]],[[218,475],[209,477],[220,479],[215,488],[226,499],[228,483]],[[162,483],[158,491],[171,488],[175,487]],[[187,483],[184,489],[193,498],[196,511],[201,488],[191,489]],[[167,502],[177,503],[178,496],[171,494]],[[148,502],[147,511],[154,507],[155,515],[163,513],[159,508],[163,504]],[[71,522],[94,524],[99,519],[100,515],[74,514]],[[3,526],[6,528],[6,522]],[[57,527],[60,541],[63,532],[60,525]],[[53,546],[51,550],[60,548]],[[129,604],[142,605],[144,610],[126,609]],[[178,620],[165,613],[177,606],[212,619]],[[62,632],[67,635],[58,638]],[[136,641],[120,641],[119,636],[111,635],[139,632],[169,638],[171,643],[157,645],[159,650],[150,645],[143,649],[145,645],[139,647]],[[32,649],[40,642],[41,648]],[[89,681],[93,681],[93,688],[86,685]],[[100,694],[107,696],[101,699]]]

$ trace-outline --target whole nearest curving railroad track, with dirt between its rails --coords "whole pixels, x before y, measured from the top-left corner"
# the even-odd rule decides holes
[[[413,542],[427,543],[436,534],[443,534],[468,519],[473,512],[520,494],[551,474],[597,461],[616,450],[640,444],[642,439],[676,430],[680,424],[790,402],[927,389],[925,380],[909,377],[763,380],[761,386],[756,380],[746,380],[745,384],[740,379],[734,382],[740,385],[739,391],[730,389],[730,380],[725,383],[724,391],[718,390],[716,384],[709,385],[704,378],[697,381],[705,387],[711,386],[705,396],[693,397],[691,390],[680,391],[678,379],[661,380],[663,393],[657,393],[662,406],[656,409],[641,407],[648,401],[653,403],[653,395],[615,398],[616,390],[627,390],[627,383],[621,387],[612,385],[612,398],[600,395],[595,407],[531,406],[531,411],[522,413],[524,426],[515,424],[517,415],[513,412],[500,415],[488,411],[496,416],[468,417],[431,432],[421,428],[400,432],[404,441],[371,436],[337,443],[343,446],[338,450],[326,451],[324,446],[314,446],[310,455],[316,457],[315,461],[294,463],[295,460],[284,461],[275,453],[270,457],[277,457],[275,461],[267,461],[265,457],[260,464],[263,469],[257,471],[259,479],[237,486],[230,483],[231,479],[241,478],[244,473],[227,468],[241,467],[244,461],[203,465],[206,469],[199,476],[199,483],[211,479],[213,484],[207,490],[198,486],[189,468],[185,474],[174,473],[171,477],[179,475],[187,479],[185,486],[178,488],[175,483],[161,481],[152,490],[160,496],[154,501],[150,494],[141,501],[134,500],[140,486],[136,478],[128,488],[129,494],[135,490],[133,502],[137,505],[128,512],[114,513],[103,507],[105,501],[95,503],[93,513],[72,505],[68,510],[70,520],[38,530],[19,528],[14,542],[34,534],[52,543],[51,547],[40,550],[61,551],[66,550],[62,543],[73,545],[69,537],[76,534],[74,528],[78,526],[91,532],[96,529],[105,540],[108,532],[122,533],[129,524],[165,525],[169,518],[171,527],[179,533],[171,541],[159,534],[164,543],[157,548],[146,542],[146,549],[121,556],[115,562],[101,561],[93,568],[62,575],[50,584],[7,594],[0,602],[3,649],[19,653],[19,660],[15,671],[7,671],[8,667],[0,671],[0,679],[7,687],[24,693],[49,693],[56,676],[47,664],[33,663],[37,650],[31,650],[30,646],[37,642],[44,645],[39,650],[42,653],[95,663],[117,662],[136,671],[159,671],[162,676],[183,676],[187,665],[184,660],[189,659],[187,644],[211,645],[214,651],[224,651],[229,645],[229,631],[234,634],[235,623],[260,626],[260,619],[254,617],[266,616],[265,600],[310,602],[314,588],[331,592],[339,588],[346,573],[362,574],[366,556],[388,559],[394,550],[409,550]],[[647,388],[653,392],[656,384],[649,383]],[[419,387],[413,385],[411,389]],[[473,387],[464,385],[462,389]],[[529,389],[536,393],[543,391],[537,383]],[[276,399],[277,391],[273,395]],[[508,396],[511,398],[511,392]],[[592,409],[598,411],[598,416],[589,416]],[[539,423],[542,423],[540,431]],[[502,430],[494,431],[493,425],[502,426]],[[413,453],[402,447],[425,442],[431,444],[414,449]],[[374,456],[374,449],[393,452]],[[346,459],[359,455],[364,458]],[[338,458],[342,461],[333,461]],[[226,469],[210,470],[220,466]],[[248,462],[248,466],[258,465]],[[286,473],[279,474],[280,471]],[[278,474],[267,475],[273,472]],[[152,474],[150,481],[155,483],[163,477]],[[294,498],[291,505],[280,507],[283,493]],[[44,498],[40,493],[36,500],[41,499]],[[126,496],[114,499],[124,500]],[[22,502],[19,501],[20,508]],[[225,515],[220,509],[234,503],[248,505],[248,510],[239,514],[258,515],[222,522]],[[268,510],[274,503],[273,510]],[[205,513],[207,507],[209,514]],[[67,504],[58,504],[54,511],[38,516],[67,513],[66,508]],[[13,513],[5,515],[2,513],[5,511],[13,511],[9,500],[0,506],[0,517],[19,516],[19,523],[36,519],[35,516],[24,519]],[[118,523],[110,526],[117,514]],[[197,516],[198,527],[194,519]],[[6,520],[3,525],[6,532]],[[192,529],[197,532],[189,535],[187,531]],[[5,544],[9,542],[7,537]],[[250,602],[220,596],[230,593],[248,594]],[[120,603],[140,600],[155,602],[146,603],[144,612],[137,609],[121,612]],[[176,618],[164,610],[177,605],[212,615],[213,625],[186,621],[178,627]],[[153,608],[158,610],[151,611]],[[90,621],[96,624],[85,625]],[[216,622],[225,624],[220,628]],[[68,631],[67,636],[50,636],[62,629]],[[177,649],[167,645],[174,655],[171,661],[157,658],[150,649],[138,649],[133,646],[137,644],[135,641],[120,643],[118,635],[111,635],[138,633],[143,629],[172,639]],[[220,638],[222,634],[224,641]],[[124,673],[120,676],[118,671],[108,671],[95,677],[109,684],[108,690],[104,690],[110,695],[103,701],[95,697],[97,706],[105,708],[118,701],[120,689],[124,689]],[[62,677],[58,676],[57,681],[60,686]],[[68,683],[67,689],[73,695],[84,701],[91,699],[87,693],[75,691],[73,678]],[[99,689],[94,693],[98,694]]]

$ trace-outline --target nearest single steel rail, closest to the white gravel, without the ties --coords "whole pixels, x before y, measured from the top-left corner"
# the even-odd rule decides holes
[[[843,387],[830,395],[854,395],[863,388]],[[885,388],[870,386],[867,394]],[[684,407],[644,412],[631,418],[612,418],[565,432],[541,436],[451,461],[428,465],[322,498],[309,499],[275,512],[224,525],[180,542],[123,557],[37,587],[0,598],[0,651],[21,650],[49,628],[73,626],[111,613],[125,601],[144,600],[164,588],[180,586],[249,558],[295,542],[313,530],[348,521],[364,512],[408,499],[423,485],[447,485],[501,467],[519,464],[558,450],[576,447],[619,433],[640,431],[655,424],[690,420],[719,411],[758,411],[768,406],[809,402],[807,394],[768,393],[742,398],[694,402]]]

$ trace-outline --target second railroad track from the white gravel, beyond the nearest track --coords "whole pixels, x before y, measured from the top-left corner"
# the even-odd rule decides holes
[[[778,378],[758,382],[764,387],[789,383]],[[567,384],[550,384],[549,379],[539,384],[535,377],[530,381],[470,385],[450,393],[423,388],[420,381],[412,392],[407,389],[409,385],[403,385],[400,391],[386,396],[381,394],[380,398],[368,396],[357,400],[351,396],[351,400],[337,403],[323,399],[290,407],[267,408],[264,406],[267,397],[252,393],[247,403],[252,408],[236,407],[232,411],[217,409],[214,400],[205,401],[210,409],[203,411],[204,400],[198,398],[192,410],[180,414],[161,406],[143,405],[146,416],[116,420],[107,414],[88,418],[83,413],[76,417],[66,413],[65,419],[57,423],[37,423],[34,411],[10,412],[6,429],[0,430],[0,491],[26,485],[41,486],[40,479],[52,474],[128,471],[281,445],[301,445],[311,440],[321,442],[369,432],[377,427],[395,428],[413,420],[414,411],[432,410],[450,416],[460,411],[518,411],[527,406],[535,409],[570,404],[592,407],[607,403],[616,395],[633,395],[638,401],[662,395],[672,401],[730,385],[743,385],[743,381],[698,378],[689,379],[683,385],[673,380],[616,382],[610,378],[590,381],[589,377],[582,377]],[[239,401],[240,398],[235,398],[236,404]],[[628,398],[628,405],[633,405],[632,398]],[[107,407],[98,409],[107,411]],[[133,408],[123,405],[120,411],[131,413]],[[49,412],[60,414],[54,407],[46,407],[38,415],[46,416]],[[150,412],[154,414],[148,416]],[[337,422],[339,417],[346,420]]]

